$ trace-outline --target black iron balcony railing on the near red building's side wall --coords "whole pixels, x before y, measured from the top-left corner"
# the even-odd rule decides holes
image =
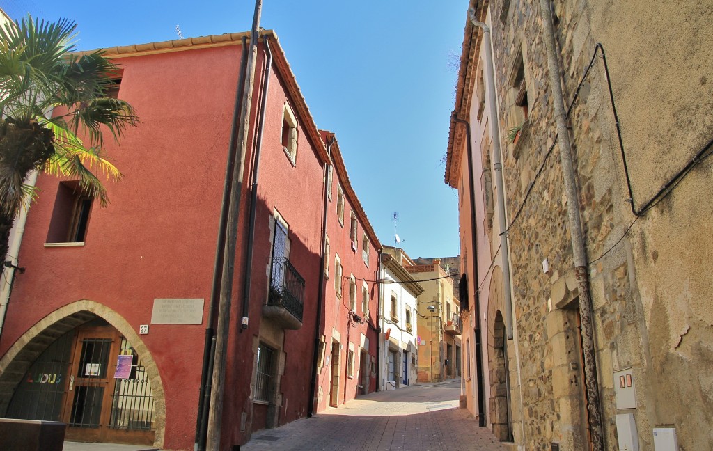
[[[302,322],[304,309],[304,279],[285,257],[272,259],[268,304],[284,307]]]

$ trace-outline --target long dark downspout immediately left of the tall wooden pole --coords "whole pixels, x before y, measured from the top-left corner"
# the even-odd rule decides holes
[[[210,406],[210,381],[213,373],[213,357],[215,356],[215,308],[220,299],[220,281],[222,261],[225,251],[225,230],[227,229],[227,210],[230,205],[230,185],[232,183],[232,168],[235,165],[237,147],[237,121],[240,118],[242,92],[247,70],[247,37],[242,37],[242,55],[240,56],[240,76],[235,93],[235,107],[232,112],[232,127],[230,129],[230,145],[228,147],[227,164],[225,165],[225,182],[223,183],[222,204],[218,222],[217,244],[215,245],[215,264],[213,266],[213,281],[210,291],[210,304],[205,327],[205,343],[203,345],[203,363],[200,373],[200,395],[198,398],[198,417],[195,431],[194,450],[205,451],[205,440],[208,432],[208,408]]]

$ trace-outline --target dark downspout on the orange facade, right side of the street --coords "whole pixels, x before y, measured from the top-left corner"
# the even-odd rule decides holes
[[[483,340],[481,337],[481,301],[480,292],[478,291],[478,281],[480,277],[478,276],[478,242],[477,239],[477,223],[476,217],[476,188],[475,188],[475,178],[473,176],[473,142],[471,141],[471,124],[467,120],[459,119],[453,112],[453,120],[459,124],[466,126],[466,140],[467,140],[467,150],[468,150],[468,177],[470,177],[470,195],[471,195],[471,241],[473,242],[473,249],[471,249],[471,259],[473,259],[473,306],[476,310],[476,324],[475,324],[475,336],[476,336],[476,383],[478,384],[478,426],[483,427],[486,425],[485,417],[485,380],[483,378]],[[470,356],[468,356],[470,358]]]

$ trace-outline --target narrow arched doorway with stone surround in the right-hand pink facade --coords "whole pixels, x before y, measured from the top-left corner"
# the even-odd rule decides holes
[[[488,363],[490,366],[489,417],[493,434],[501,442],[512,440],[510,398],[510,370],[508,366],[508,340],[503,321],[503,273],[499,266],[493,268],[488,293]]]

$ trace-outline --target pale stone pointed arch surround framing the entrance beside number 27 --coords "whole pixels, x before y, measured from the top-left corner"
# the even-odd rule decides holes
[[[83,299],[49,313],[29,328],[0,358],[0,416],[6,413],[12,393],[39,355],[73,328],[102,318],[116,328],[140,356],[151,383],[155,409],[155,447],[163,447],[166,423],[165,398],[158,366],[138,333],[119,313],[95,301]]]

